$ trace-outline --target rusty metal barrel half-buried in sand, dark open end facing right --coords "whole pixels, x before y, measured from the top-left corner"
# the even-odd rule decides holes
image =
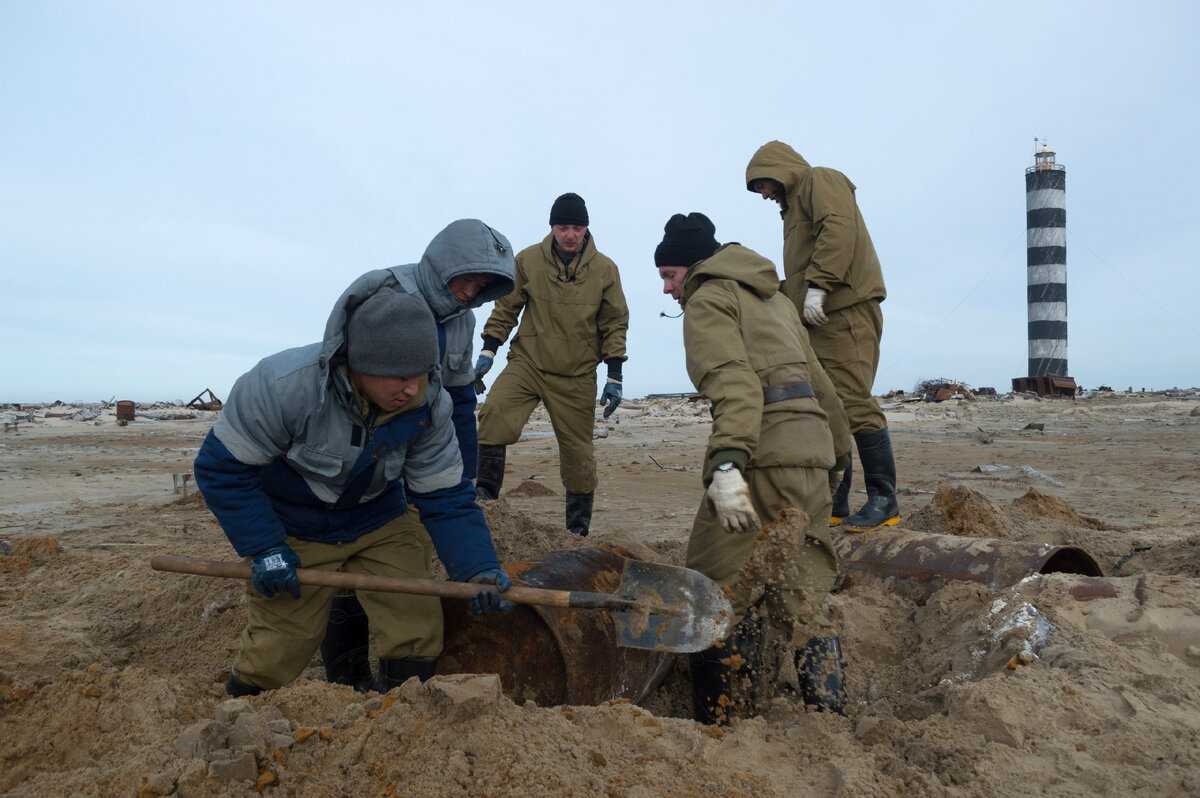
[[[869,574],[925,595],[955,580],[998,590],[1036,574],[1104,576],[1082,548],[1054,544],[889,529],[835,535],[834,548],[848,581]]]

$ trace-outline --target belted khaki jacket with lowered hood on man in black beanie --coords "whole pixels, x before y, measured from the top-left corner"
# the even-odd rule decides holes
[[[688,376],[713,404],[704,484],[722,462],[830,468],[833,438],[816,398],[763,402],[769,385],[811,383],[800,318],[779,293],[775,265],[727,244],[691,268],[683,304]]]

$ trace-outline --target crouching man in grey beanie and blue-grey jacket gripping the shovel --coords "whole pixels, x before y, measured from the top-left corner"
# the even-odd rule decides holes
[[[438,359],[428,306],[382,287],[344,294],[320,343],[270,355],[238,379],[194,464],[229,542],[252,559],[229,695],[288,684],[320,644],[336,589],[301,587],[301,565],[426,577],[432,539],[451,580],[496,586],[472,599],[472,612],[511,610],[500,596],[509,577],[463,478]],[[378,689],[430,678],[442,653],[439,600],[359,599],[376,632]]]

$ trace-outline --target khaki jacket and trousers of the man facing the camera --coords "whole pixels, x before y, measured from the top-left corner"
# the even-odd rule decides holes
[[[479,443],[516,443],[541,402],[558,440],[563,485],[571,493],[592,493],[596,365],[625,359],[629,307],[617,264],[590,235],[568,264],[553,242],[547,235],[517,254],[516,287],[496,301],[484,326],[485,341],[503,343],[521,314],[508,365],[479,410]]]

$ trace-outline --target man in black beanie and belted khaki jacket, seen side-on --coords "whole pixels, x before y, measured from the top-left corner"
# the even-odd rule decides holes
[[[824,599],[836,576],[827,523],[834,443],[812,379],[821,366],[805,355],[774,264],[738,244],[719,245],[703,214],[672,216],[654,263],[662,292],[684,310],[688,376],[713,413],[686,564],[725,586],[739,617],[728,641],[691,655],[696,719],[724,720],[731,698],[754,703],[732,694],[740,671],[761,668],[769,596],[779,599],[775,614],[786,616],[805,702],[842,712],[838,637],[792,637],[829,629]],[[788,506],[808,516],[804,540],[779,552],[778,583],[745,584],[739,571],[760,545],[761,522]]]

